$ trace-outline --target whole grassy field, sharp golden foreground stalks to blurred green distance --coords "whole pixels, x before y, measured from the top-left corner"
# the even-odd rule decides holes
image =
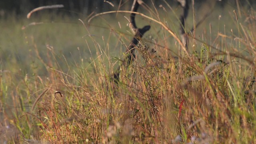
[[[180,7],[163,6],[140,12],[178,36]],[[212,6],[190,7],[187,31]],[[129,14],[90,24],[47,10],[30,19],[7,15],[0,19],[3,143],[256,143],[252,7],[214,8],[190,34],[189,55],[163,26],[136,16],[139,28],[151,29],[118,83],[112,74],[133,38]]]

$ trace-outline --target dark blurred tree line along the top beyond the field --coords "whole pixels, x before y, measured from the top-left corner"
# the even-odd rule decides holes
[[[146,3],[151,1],[156,4],[164,4],[163,0],[143,0]],[[169,4],[177,4],[177,0],[166,0]],[[206,0],[195,0],[195,3],[202,3]],[[226,4],[236,4],[236,0],[217,0],[218,5],[225,6]],[[133,0],[108,0],[115,5],[125,4],[130,6]],[[249,5],[256,3],[256,0],[238,0],[242,5]],[[46,6],[52,4],[63,4],[66,10],[72,10],[83,14],[90,14],[92,12],[103,12],[108,10],[116,10],[117,6],[113,8],[104,0],[0,0],[0,11],[4,12],[16,12],[17,14],[23,14],[29,12],[33,8],[39,6]],[[126,8],[126,7],[122,7]],[[128,7],[127,7],[128,8]],[[127,9],[126,9],[127,10]]]

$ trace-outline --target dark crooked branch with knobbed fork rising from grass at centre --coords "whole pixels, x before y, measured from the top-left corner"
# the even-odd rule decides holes
[[[133,4],[132,4],[132,12],[137,12],[140,4],[142,4],[142,0],[134,0]],[[126,67],[130,66],[130,64],[132,63],[132,60],[135,58],[134,56],[134,50],[135,50],[135,46],[139,43],[139,40],[142,38],[142,36],[145,34],[145,32],[147,32],[150,29],[150,26],[144,26],[143,28],[137,28],[136,23],[135,23],[135,15],[134,13],[132,13],[130,15],[130,23],[132,25],[132,30],[135,32],[135,35],[132,39],[132,42],[130,43],[130,45],[127,48],[127,52],[128,52],[128,56],[126,56],[125,60],[123,60],[123,64],[122,65],[126,65]],[[115,72],[113,74],[114,80],[115,82],[119,81],[119,75],[120,75],[120,66],[118,67],[117,72]]]

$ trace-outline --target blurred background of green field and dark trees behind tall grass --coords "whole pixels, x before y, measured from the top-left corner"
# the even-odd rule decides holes
[[[75,64],[80,63],[81,59],[83,59],[83,62],[90,64],[90,57],[95,54],[95,48],[92,48],[95,43],[90,39],[90,36],[99,44],[104,44],[104,40],[108,40],[108,52],[111,56],[120,58],[120,54],[126,49],[124,44],[119,42],[120,36],[126,37],[123,41],[125,44],[129,44],[133,36],[127,26],[128,21],[124,18],[124,16],[129,17],[129,14],[116,13],[98,16],[92,20],[90,26],[87,20],[89,16],[100,12],[130,10],[132,2],[133,0],[0,1],[0,69],[12,72],[22,71],[24,74],[45,74],[45,68],[38,56],[42,60],[47,59],[47,45],[54,48],[57,53],[56,59],[62,68],[66,67],[66,62]],[[176,0],[144,0],[144,2],[153,11],[155,7],[160,14],[160,18],[165,20],[174,32],[179,32],[178,18],[182,11]],[[26,14],[30,10],[53,4],[63,4],[64,8],[41,10],[34,12],[30,19],[26,18]],[[255,1],[195,0],[195,20],[199,21],[204,14],[212,8],[214,9],[210,16],[198,26],[198,36],[202,36],[203,31],[209,30],[209,23],[212,25],[213,34],[218,30],[224,31],[224,23],[226,28],[229,29],[228,32],[230,32],[230,29],[234,26],[230,22],[234,15],[230,12],[237,9],[237,4],[243,6],[238,11],[241,16],[241,13],[253,8]],[[186,22],[188,29],[193,26],[191,2],[189,5],[190,10]],[[140,7],[139,12],[153,16],[147,8]],[[220,15],[222,16],[221,20],[219,20]],[[242,18],[245,19],[244,16]],[[78,19],[84,21],[86,28]],[[136,19],[138,19],[138,26],[143,26],[145,23],[152,26],[152,29],[146,33],[144,38],[152,42],[161,39],[159,25],[140,16],[137,16]],[[25,29],[22,30],[22,27]],[[236,28],[233,29],[236,32]],[[154,38],[155,40],[152,40]]]

